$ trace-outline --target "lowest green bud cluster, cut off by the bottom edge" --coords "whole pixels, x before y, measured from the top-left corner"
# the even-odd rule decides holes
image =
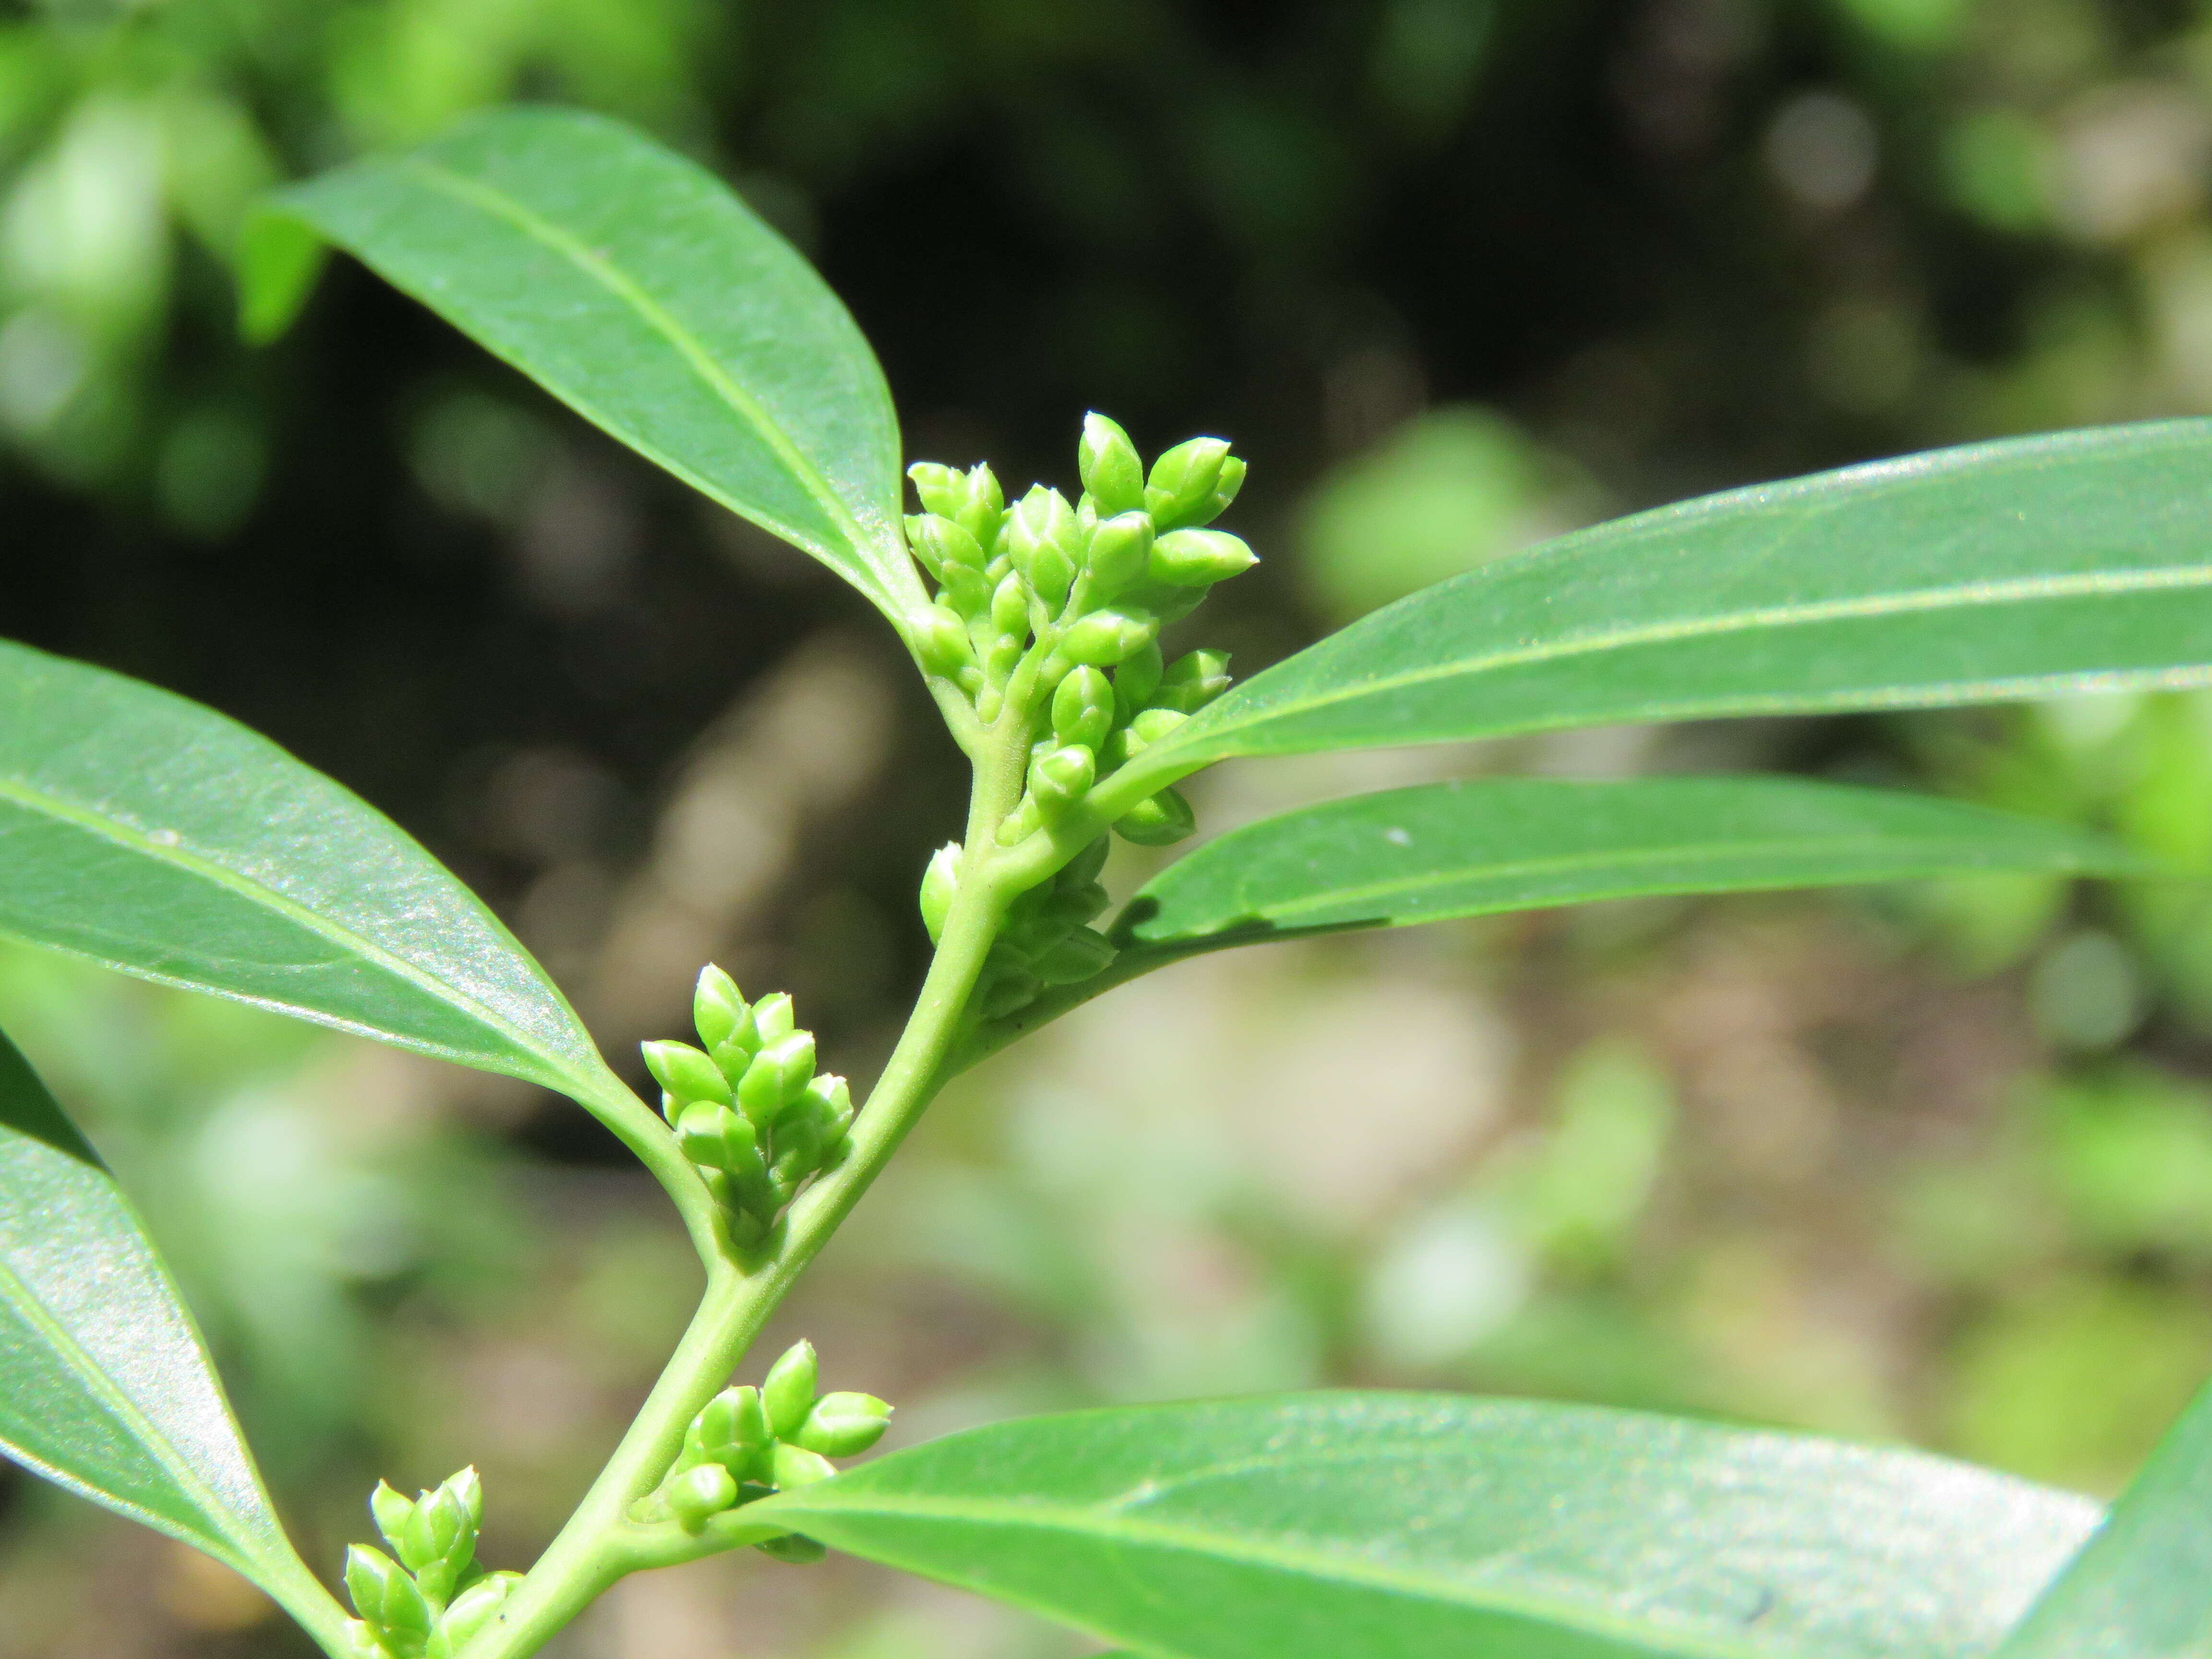
[[[522,1582],[520,1573],[487,1573],[476,1564],[482,1482],[462,1469],[411,1502],[378,1482],[369,1515],[392,1555],[369,1544],[345,1553],[345,1593],[358,1615],[347,1626],[356,1659],[453,1659]]]

